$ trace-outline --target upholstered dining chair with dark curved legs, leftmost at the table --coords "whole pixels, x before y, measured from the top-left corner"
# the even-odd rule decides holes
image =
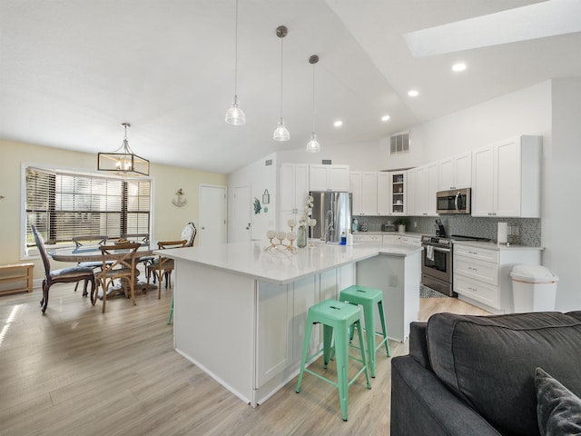
[[[44,247],[43,238],[40,237],[34,225],[31,228],[34,234],[34,241],[38,247],[38,253],[40,253],[40,257],[44,263],[43,299],[40,301],[41,306],[43,306],[43,314],[46,312],[46,307],[48,306],[48,291],[54,283],[91,282],[91,295],[93,295],[95,288],[93,268],[72,266],[51,271],[51,263],[46,252],[46,247]]]

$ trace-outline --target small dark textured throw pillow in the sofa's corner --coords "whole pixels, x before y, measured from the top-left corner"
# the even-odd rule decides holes
[[[538,430],[542,436],[581,434],[581,399],[537,368]]]

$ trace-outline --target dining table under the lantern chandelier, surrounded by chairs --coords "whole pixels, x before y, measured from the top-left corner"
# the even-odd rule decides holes
[[[99,244],[67,246],[55,248],[54,250],[49,251],[48,254],[53,258],[54,261],[57,262],[102,262],[103,254],[101,253],[100,246],[101,245]],[[153,243],[151,241],[142,242],[141,246],[137,249],[135,263],[143,262],[144,265],[147,265],[148,262],[153,261],[153,250],[156,249],[157,243]],[[148,285],[147,282],[137,281],[135,283],[135,288],[146,292],[149,289],[157,289],[157,285]],[[120,292],[123,292],[123,287],[121,285],[113,286],[107,290],[107,298]]]

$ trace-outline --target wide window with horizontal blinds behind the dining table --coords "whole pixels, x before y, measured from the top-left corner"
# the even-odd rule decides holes
[[[31,225],[48,244],[74,236],[149,234],[151,181],[26,168],[26,246]]]

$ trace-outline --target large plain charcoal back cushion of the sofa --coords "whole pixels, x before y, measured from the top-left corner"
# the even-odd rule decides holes
[[[564,313],[438,313],[427,337],[439,379],[503,434],[539,434],[537,367],[581,393],[581,321]]]

